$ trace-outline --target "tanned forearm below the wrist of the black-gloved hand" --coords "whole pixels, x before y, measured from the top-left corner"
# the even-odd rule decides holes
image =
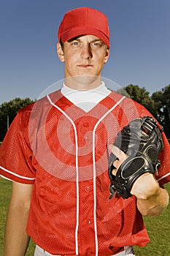
[[[137,198],[137,207],[139,211],[146,216],[158,216],[169,203],[169,194],[166,189],[158,187],[153,195],[146,199]]]

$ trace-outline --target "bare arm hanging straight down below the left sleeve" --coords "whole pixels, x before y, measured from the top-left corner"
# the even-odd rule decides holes
[[[13,182],[4,239],[4,256],[23,256],[29,243],[26,234],[32,185]]]

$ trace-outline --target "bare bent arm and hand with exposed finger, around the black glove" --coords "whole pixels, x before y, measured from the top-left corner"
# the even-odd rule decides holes
[[[116,146],[111,145],[110,148],[118,158],[114,162],[116,169],[113,170],[113,174],[116,175],[118,167],[120,167],[128,155]],[[140,176],[134,182],[131,194],[136,196],[139,211],[147,216],[160,215],[169,203],[168,192],[159,186],[152,173],[144,173]]]

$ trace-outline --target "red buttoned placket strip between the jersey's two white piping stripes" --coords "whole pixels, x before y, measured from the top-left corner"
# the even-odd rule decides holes
[[[78,145],[79,145],[79,253],[80,255],[91,255],[96,245],[96,219],[94,217],[95,200],[93,194],[93,128],[96,124],[96,118],[92,116],[82,116],[77,121]],[[81,158],[81,162],[80,162]],[[83,168],[81,168],[83,165]],[[85,165],[87,167],[85,168]],[[82,172],[86,172],[84,173]],[[95,230],[95,232],[94,232]]]

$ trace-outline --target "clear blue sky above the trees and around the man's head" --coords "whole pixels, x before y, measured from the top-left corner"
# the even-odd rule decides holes
[[[111,55],[102,76],[147,91],[170,84],[169,0],[0,0],[0,104],[36,99],[63,79],[55,53],[66,11],[88,6],[109,19]]]

